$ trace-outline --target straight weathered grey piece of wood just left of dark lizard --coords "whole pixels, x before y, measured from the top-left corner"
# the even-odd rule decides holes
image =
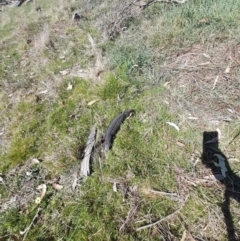
[[[90,159],[91,159],[92,150],[96,140],[96,133],[97,133],[97,129],[95,124],[92,127],[90,135],[88,136],[87,144],[84,150],[85,155],[82,160],[81,169],[80,169],[81,177],[87,177],[90,175]]]

